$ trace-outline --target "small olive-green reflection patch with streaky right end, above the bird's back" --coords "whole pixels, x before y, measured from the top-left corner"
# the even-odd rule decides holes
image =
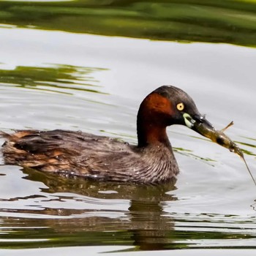
[[[11,70],[0,69],[0,83],[64,94],[72,94],[70,89],[101,93],[95,89],[99,86],[95,85],[97,80],[92,77],[92,73],[102,70],[105,69],[64,64],[50,67],[19,66]]]

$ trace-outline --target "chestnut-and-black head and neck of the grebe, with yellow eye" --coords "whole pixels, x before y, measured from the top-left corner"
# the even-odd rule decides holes
[[[137,116],[138,146],[152,143],[170,145],[166,127],[181,124],[204,135],[204,130],[214,127],[200,115],[195,102],[189,95],[175,86],[161,86],[148,94],[140,104]],[[197,129],[200,124],[200,129]],[[204,135],[206,136],[206,135]]]

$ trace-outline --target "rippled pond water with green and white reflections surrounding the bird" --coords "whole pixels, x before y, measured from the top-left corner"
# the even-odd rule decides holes
[[[170,84],[217,129],[234,121],[227,135],[256,177],[256,4],[204,2],[1,1],[1,130],[135,144],[141,100]],[[1,254],[255,255],[256,188],[244,163],[186,127],[168,136],[176,184],[97,183],[2,161]]]

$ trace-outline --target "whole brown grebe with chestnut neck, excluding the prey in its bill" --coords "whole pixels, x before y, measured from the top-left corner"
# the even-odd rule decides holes
[[[178,174],[166,133],[166,127],[172,124],[183,124],[205,136],[204,131],[214,131],[187,93],[174,86],[161,86],[140,104],[138,146],[60,129],[18,130],[11,135],[5,132],[0,135],[7,139],[2,148],[7,165],[99,181],[157,184]]]

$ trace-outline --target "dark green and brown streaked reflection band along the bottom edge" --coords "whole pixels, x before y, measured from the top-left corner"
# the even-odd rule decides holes
[[[148,206],[149,207],[149,206]],[[59,209],[61,211],[61,209]],[[229,225],[221,221],[208,221],[195,217],[187,222],[172,217],[162,217],[146,225],[146,213],[138,209],[134,217],[144,219],[113,219],[104,217],[70,218],[70,219],[18,219],[4,218],[4,233],[1,234],[0,248],[43,248],[52,246],[103,246],[129,245],[133,250],[162,250],[184,248],[241,248],[256,249],[255,245],[247,245],[255,239],[253,229],[240,227],[249,222],[239,222],[236,217],[225,217]],[[161,218],[161,211],[154,213]],[[216,215],[215,218],[222,218]],[[148,222],[153,220],[149,217]],[[166,224],[164,224],[164,221]],[[252,220],[253,223],[253,220]],[[192,226],[192,224],[194,224]],[[222,224],[222,227],[218,227]],[[43,227],[43,225],[47,225]],[[157,226],[158,225],[158,226]],[[216,226],[215,226],[216,225]],[[176,226],[176,227],[175,227]],[[104,227],[105,232],[102,232]],[[225,241],[223,245],[216,241]],[[230,241],[228,243],[228,241]],[[242,243],[243,241],[243,243]]]

